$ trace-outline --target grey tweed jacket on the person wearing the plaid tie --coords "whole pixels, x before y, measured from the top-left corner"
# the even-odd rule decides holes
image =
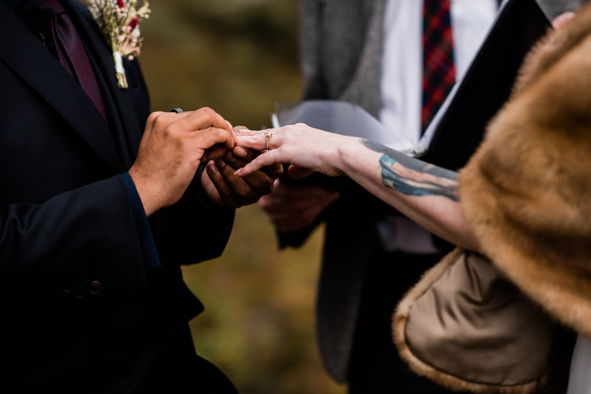
[[[303,99],[356,103],[377,116],[380,108],[382,27],[387,0],[302,0]],[[582,0],[537,0],[549,18]],[[349,213],[349,211],[347,212]],[[317,337],[327,371],[345,382],[355,335],[363,265],[370,240],[350,239],[350,222],[327,218],[324,262],[317,299]],[[369,224],[371,226],[371,224]],[[363,232],[363,231],[361,231]],[[361,237],[363,235],[360,235]],[[289,242],[287,242],[289,243]],[[343,259],[334,255],[346,256]]]

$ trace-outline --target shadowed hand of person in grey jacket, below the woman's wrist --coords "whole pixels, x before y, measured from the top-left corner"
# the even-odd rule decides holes
[[[317,186],[290,185],[275,181],[275,190],[261,198],[261,207],[280,233],[294,233],[310,226],[339,198],[336,191]]]

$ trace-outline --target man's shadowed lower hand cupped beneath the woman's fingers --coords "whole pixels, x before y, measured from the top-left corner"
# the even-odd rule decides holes
[[[233,130],[241,135],[243,126]],[[202,184],[207,196],[213,203],[229,208],[239,208],[254,204],[265,194],[271,193],[275,179],[281,176],[283,168],[280,164],[271,165],[255,171],[248,177],[238,177],[236,170],[258,157],[261,152],[235,146],[232,151],[216,158],[207,164],[203,172]]]

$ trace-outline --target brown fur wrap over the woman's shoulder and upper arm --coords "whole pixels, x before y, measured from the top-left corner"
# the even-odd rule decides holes
[[[460,199],[495,266],[591,337],[591,6],[527,58]]]

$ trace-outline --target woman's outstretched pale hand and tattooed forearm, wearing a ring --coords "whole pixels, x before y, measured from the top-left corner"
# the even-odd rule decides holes
[[[408,157],[376,142],[303,124],[267,132],[273,134],[269,141],[272,150],[261,154],[236,174],[246,177],[266,165],[283,163],[292,165],[289,170],[292,178],[312,171],[331,176],[346,175],[431,233],[463,248],[478,250],[478,242],[458,200],[456,172]],[[244,136],[237,136],[236,145],[259,151],[267,149],[265,131],[243,133]]]

